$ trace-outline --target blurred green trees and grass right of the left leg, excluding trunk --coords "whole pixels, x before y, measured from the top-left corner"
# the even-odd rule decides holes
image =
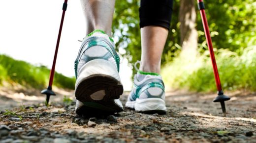
[[[113,37],[122,55],[133,65],[140,60],[140,0],[116,1]],[[209,51],[197,3],[195,2],[198,31],[198,52],[195,61],[179,57],[180,0],[174,0],[169,35],[161,58],[165,84],[171,88],[195,91],[216,91]],[[205,0],[205,11],[211,31],[221,81],[225,89],[256,90],[256,1],[255,0]],[[121,51],[121,50],[120,50]],[[250,61],[253,61],[250,63]],[[248,64],[250,63],[250,64]],[[133,68],[133,73],[136,71]]]

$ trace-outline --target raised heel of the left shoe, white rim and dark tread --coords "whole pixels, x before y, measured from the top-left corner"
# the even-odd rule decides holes
[[[103,59],[86,63],[76,80],[75,96],[82,102],[107,102],[118,99],[123,91],[118,71]]]

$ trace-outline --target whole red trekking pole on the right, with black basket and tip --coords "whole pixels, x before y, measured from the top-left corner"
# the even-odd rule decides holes
[[[205,7],[204,7],[203,0],[197,0],[197,2],[198,2],[198,9],[200,10],[200,15],[201,15],[202,23],[203,23],[203,28],[204,28],[207,45],[208,45],[208,48],[210,51],[216,86],[218,89],[218,96],[213,101],[221,102],[222,111],[223,111],[223,113],[225,113],[226,109],[225,109],[224,101],[229,100],[230,97],[224,95],[224,92],[222,90],[221,80],[220,80],[220,76],[219,76],[219,72],[218,72],[218,68],[217,68],[217,64],[216,64],[216,60],[215,60],[215,56],[214,56],[213,46],[212,46],[212,39],[211,39],[209,26],[208,26],[207,19],[206,19],[206,14],[204,11]]]

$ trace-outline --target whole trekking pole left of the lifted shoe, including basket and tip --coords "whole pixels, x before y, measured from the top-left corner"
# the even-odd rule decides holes
[[[46,105],[46,106],[49,105],[50,96],[51,96],[51,95],[56,95],[56,94],[52,91],[52,84],[53,84],[53,78],[54,78],[54,72],[55,72],[55,64],[56,64],[56,59],[57,59],[57,54],[58,54],[58,49],[59,49],[61,34],[62,34],[62,26],[63,26],[63,22],[64,22],[64,16],[65,16],[66,7],[67,7],[67,0],[64,0],[63,7],[62,7],[62,10],[63,10],[63,13],[62,13],[62,20],[61,20],[61,25],[60,25],[60,29],[59,29],[59,34],[58,34],[56,49],[55,49],[55,53],[54,53],[53,65],[52,65],[52,69],[51,69],[51,72],[50,72],[49,85],[48,85],[48,88],[47,88],[47,89],[41,91],[41,94],[45,94],[45,95],[46,95],[46,101],[45,101],[45,105]]]

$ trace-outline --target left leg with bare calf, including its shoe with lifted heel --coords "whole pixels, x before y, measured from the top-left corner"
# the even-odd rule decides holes
[[[111,37],[115,0],[81,0],[86,37],[75,60],[76,113],[113,114],[123,111],[120,58]]]

